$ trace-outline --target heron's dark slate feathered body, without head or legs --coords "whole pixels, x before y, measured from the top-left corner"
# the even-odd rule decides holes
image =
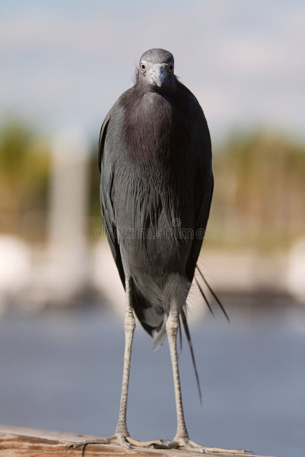
[[[185,305],[211,202],[211,143],[195,96],[175,77],[166,92],[137,77],[103,124],[100,167],[120,278],[125,286],[129,271],[133,309],[158,344],[172,299]]]

